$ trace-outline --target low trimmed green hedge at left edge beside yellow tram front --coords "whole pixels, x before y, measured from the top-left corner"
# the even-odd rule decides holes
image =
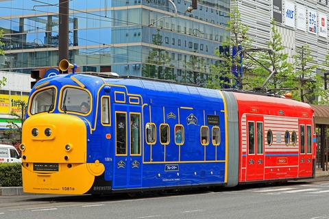
[[[3,187],[22,186],[22,164],[0,163],[0,184]]]

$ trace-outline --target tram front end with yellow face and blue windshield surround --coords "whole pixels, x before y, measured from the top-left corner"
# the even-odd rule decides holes
[[[87,163],[86,157],[93,95],[74,75],[42,82],[32,89],[23,123],[23,191],[88,193],[104,172],[98,159]]]

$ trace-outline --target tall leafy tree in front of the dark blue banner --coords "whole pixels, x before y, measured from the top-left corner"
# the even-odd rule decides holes
[[[215,54],[220,58],[217,66],[212,65],[211,80],[208,81],[208,88],[239,88],[247,82],[243,81],[243,68],[247,68],[246,60],[242,59],[241,49],[248,49],[252,40],[247,35],[249,27],[241,22],[241,14],[236,4],[232,3],[230,9],[230,20],[226,31],[230,36],[226,36],[219,49],[215,49]],[[232,51],[232,52],[231,52]]]

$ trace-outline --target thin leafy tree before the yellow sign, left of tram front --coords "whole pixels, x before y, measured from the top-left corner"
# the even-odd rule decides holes
[[[14,117],[16,120],[18,120],[21,123],[21,127],[14,123],[14,120],[7,120],[8,125],[6,127],[8,128],[5,130],[5,134],[8,136],[11,136],[10,134],[14,134],[14,136],[20,136],[19,142],[22,142],[22,127],[25,120],[25,112],[26,112],[26,103],[25,101],[16,101],[17,105],[21,106],[21,114],[17,114],[16,112],[12,111],[10,112],[10,116]],[[12,140],[12,143],[16,143],[16,139],[10,139]]]

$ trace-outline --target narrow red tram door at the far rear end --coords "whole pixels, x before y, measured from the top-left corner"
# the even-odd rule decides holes
[[[313,170],[312,127],[309,120],[300,120],[300,155],[298,177],[310,177]]]

